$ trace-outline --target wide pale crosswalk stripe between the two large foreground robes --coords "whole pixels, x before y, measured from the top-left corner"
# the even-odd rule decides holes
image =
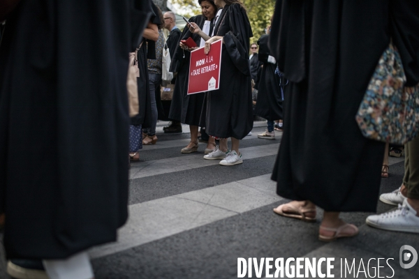
[[[119,229],[116,243],[90,250],[91,257],[163,239],[189,229],[257,209],[281,197],[270,174],[129,206],[128,223]]]

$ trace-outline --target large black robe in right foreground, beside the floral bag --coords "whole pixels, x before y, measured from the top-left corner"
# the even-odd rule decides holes
[[[416,0],[278,0],[270,50],[290,83],[272,179],[277,193],[327,211],[376,211],[384,143],[355,114],[393,38],[408,84],[419,82]]]

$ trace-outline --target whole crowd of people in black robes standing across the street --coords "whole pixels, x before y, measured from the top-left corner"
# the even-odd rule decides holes
[[[140,161],[143,145],[158,144],[158,119],[171,121],[164,133],[189,125],[182,153],[198,152],[203,140],[203,159],[232,166],[243,163],[240,140],[251,133],[253,116],[263,117],[267,129],[258,138],[275,140],[275,130],[284,130],[272,179],[277,194],[293,200],[274,213],[315,222],[318,206],[319,240],[358,234],[339,213],[376,211],[390,151],[360,133],[355,114],[390,40],[402,53],[407,84],[419,83],[415,1],[277,0],[260,38],[252,38],[240,0],[198,0],[202,13],[183,31],[175,13],[163,14],[151,0],[95,2],[14,0],[0,7],[0,225],[15,277],[22,269],[46,271],[45,278],[94,277],[86,250],[117,239],[128,218],[127,160]],[[188,38],[197,47],[181,42]],[[191,51],[208,54],[217,40],[219,89],[188,95]],[[165,103],[167,49],[175,77]],[[139,113],[131,119],[128,52],[136,53],[139,73]],[[98,160],[103,151],[107,159]],[[419,138],[404,153],[402,186],[379,197],[398,208],[366,222],[419,233]],[[39,162],[22,174],[26,158]]]

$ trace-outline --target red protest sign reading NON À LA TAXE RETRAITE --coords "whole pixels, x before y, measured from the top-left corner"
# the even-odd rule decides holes
[[[219,89],[222,49],[223,40],[220,39],[211,44],[209,54],[204,53],[204,47],[191,52],[188,94]]]

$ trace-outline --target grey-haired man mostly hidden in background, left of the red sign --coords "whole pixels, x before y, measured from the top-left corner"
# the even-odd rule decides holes
[[[166,41],[169,53],[170,53],[170,59],[173,58],[173,54],[175,54],[175,50],[177,45],[179,45],[180,36],[182,35],[182,32],[177,28],[176,26],[176,15],[175,13],[169,11],[164,13],[164,28],[168,29],[170,31],[168,40]],[[172,84],[175,84],[176,78],[174,77],[172,80]],[[171,101],[162,101],[163,109],[165,111],[166,115],[169,115],[170,110],[170,103]],[[182,133],[182,125],[179,121],[172,121],[170,126],[163,127],[164,133]]]

